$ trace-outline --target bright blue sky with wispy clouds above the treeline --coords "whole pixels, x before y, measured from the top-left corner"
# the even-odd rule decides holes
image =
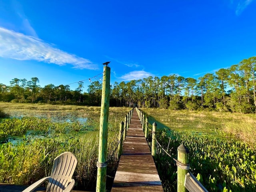
[[[255,10],[256,0],[0,0],[0,83],[66,85],[100,74],[106,61],[112,84],[197,79],[256,56]]]

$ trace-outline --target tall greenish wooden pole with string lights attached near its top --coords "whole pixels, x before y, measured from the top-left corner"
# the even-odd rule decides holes
[[[102,99],[100,110],[100,138],[98,162],[107,161],[107,144],[108,144],[108,110],[110,95],[110,67],[104,66],[102,82]],[[106,191],[106,173],[107,167],[98,167],[96,192]]]

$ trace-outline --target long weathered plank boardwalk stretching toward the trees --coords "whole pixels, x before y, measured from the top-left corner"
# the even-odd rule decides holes
[[[162,184],[136,110],[126,134],[112,192],[163,192]]]

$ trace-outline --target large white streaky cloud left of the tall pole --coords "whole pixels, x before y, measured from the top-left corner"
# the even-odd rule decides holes
[[[37,60],[60,66],[71,64],[73,68],[96,70],[90,60],[64,52],[32,36],[0,27],[0,57],[16,60]]]

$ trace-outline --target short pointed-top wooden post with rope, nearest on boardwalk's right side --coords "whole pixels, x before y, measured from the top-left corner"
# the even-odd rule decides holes
[[[183,164],[188,164],[188,154],[189,150],[182,143],[178,146],[178,162]],[[188,173],[188,170],[182,169],[177,166],[177,192],[186,192],[187,189],[184,186],[185,176]]]

